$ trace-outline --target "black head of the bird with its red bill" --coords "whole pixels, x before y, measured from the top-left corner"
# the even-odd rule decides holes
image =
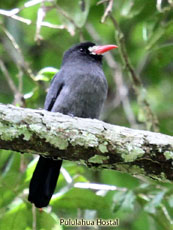
[[[92,42],[83,42],[78,45],[71,47],[64,54],[63,63],[65,64],[68,61],[78,60],[92,60],[101,62],[102,55],[109,50],[118,48],[116,45],[99,45]]]

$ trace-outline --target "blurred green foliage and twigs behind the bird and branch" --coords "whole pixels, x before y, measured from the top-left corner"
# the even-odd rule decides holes
[[[0,103],[43,108],[64,51],[82,41],[119,46],[104,57],[109,92],[101,119],[172,135],[172,0],[0,2]],[[120,230],[173,229],[172,184],[68,161],[40,212],[27,201],[36,161],[0,150],[0,229],[74,229],[59,217],[119,218]]]

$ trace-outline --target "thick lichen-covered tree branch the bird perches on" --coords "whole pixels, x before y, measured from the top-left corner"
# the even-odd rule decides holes
[[[173,137],[0,104],[0,149],[173,181]]]

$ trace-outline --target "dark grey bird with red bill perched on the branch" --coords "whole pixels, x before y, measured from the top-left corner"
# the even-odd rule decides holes
[[[59,72],[51,81],[44,109],[70,116],[99,119],[108,91],[102,69],[103,54],[117,47],[87,41],[69,48],[64,53]],[[28,200],[37,208],[48,206],[61,165],[62,160],[39,157],[28,195]]]

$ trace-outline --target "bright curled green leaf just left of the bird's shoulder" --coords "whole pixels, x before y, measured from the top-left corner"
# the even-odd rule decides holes
[[[38,72],[35,79],[36,81],[50,81],[57,72],[58,69],[54,67],[45,67]]]

